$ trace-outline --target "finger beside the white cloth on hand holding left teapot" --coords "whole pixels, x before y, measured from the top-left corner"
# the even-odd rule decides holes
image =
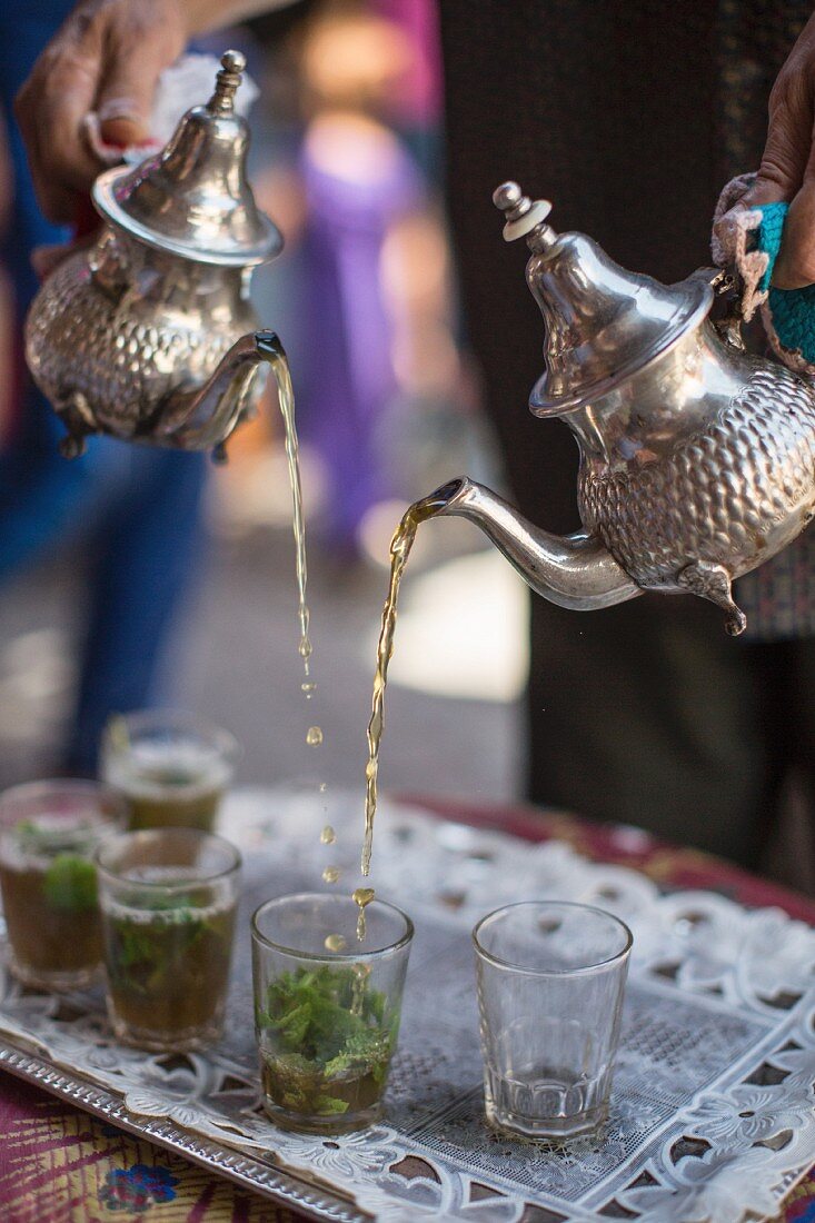
[[[155,32],[136,45],[111,48],[97,91],[99,136],[105,144],[127,148],[149,139],[158,78],[179,50]]]

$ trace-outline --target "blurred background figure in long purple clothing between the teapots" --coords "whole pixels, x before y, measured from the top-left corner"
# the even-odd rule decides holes
[[[362,520],[387,495],[378,433],[396,390],[398,319],[383,249],[426,191],[381,116],[412,51],[390,22],[340,9],[312,23],[301,54],[301,342],[321,360],[302,364],[300,422],[326,476],[323,539],[339,556],[356,553]]]

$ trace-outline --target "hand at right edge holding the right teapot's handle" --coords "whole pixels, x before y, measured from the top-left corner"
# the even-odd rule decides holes
[[[767,143],[746,207],[789,201],[772,283],[815,283],[815,15],[793,46],[770,94]]]

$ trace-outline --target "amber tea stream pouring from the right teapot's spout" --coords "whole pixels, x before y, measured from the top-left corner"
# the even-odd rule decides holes
[[[393,635],[396,627],[396,604],[401,575],[410,556],[410,549],[416,538],[420,522],[432,519],[444,509],[449,498],[458,488],[458,482],[445,484],[443,489],[415,501],[405,511],[390,541],[390,582],[388,598],[382,609],[382,627],[377,646],[377,669],[373,676],[373,700],[371,720],[368,722],[368,763],[365,768],[365,840],[362,843],[362,874],[371,872],[371,854],[373,851],[373,819],[377,812],[377,780],[379,775],[379,745],[384,729],[384,695],[388,684],[388,664],[393,654]]]

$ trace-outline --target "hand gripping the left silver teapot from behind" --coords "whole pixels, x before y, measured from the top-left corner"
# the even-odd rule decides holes
[[[187,37],[182,0],[81,0],[66,18],[15,103],[50,221],[72,221],[78,198],[103,169],[83,137],[86,116],[98,113],[105,143],[146,141],[155,83]]]

